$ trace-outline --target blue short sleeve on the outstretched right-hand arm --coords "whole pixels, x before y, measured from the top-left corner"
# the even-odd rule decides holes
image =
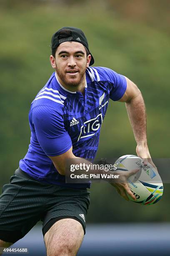
[[[114,101],[120,100],[127,88],[125,77],[121,74],[117,74],[112,69],[105,68],[105,71],[107,74],[107,79],[112,86],[109,96],[110,99]]]

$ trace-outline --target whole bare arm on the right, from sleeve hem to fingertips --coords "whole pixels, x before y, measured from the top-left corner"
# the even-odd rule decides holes
[[[136,153],[138,156],[145,159],[145,164],[149,161],[155,167],[151,160],[147,144],[146,109],[143,96],[138,87],[130,81],[130,79],[127,77],[125,77],[125,79],[127,89],[119,101],[125,102],[126,105],[128,117],[137,143]]]

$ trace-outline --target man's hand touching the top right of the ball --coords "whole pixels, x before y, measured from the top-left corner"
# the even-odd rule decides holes
[[[158,172],[158,169],[156,168],[155,164],[153,163],[150,153],[149,153],[149,149],[148,146],[145,145],[137,145],[136,147],[136,153],[139,157],[141,157],[143,159],[143,164],[147,165],[148,163],[150,163]]]

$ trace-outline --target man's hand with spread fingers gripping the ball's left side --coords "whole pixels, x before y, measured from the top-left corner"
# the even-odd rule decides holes
[[[128,186],[127,179],[131,175],[136,174],[139,171],[139,169],[134,169],[132,171],[114,171],[115,175],[120,175],[118,179],[116,179],[116,182],[110,183],[113,187],[116,188],[117,193],[125,198],[125,200],[129,201],[129,198],[127,194],[133,198],[133,200],[136,200],[136,197],[133,195],[133,193],[130,190],[130,187]]]

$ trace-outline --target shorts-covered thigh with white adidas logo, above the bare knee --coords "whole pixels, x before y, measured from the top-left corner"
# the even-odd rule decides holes
[[[53,198],[53,200],[52,200]],[[60,187],[56,195],[49,199],[49,205],[42,219],[42,233],[61,219],[74,219],[82,225],[85,233],[86,215],[90,204],[90,192],[87,189],[70,189]]]

